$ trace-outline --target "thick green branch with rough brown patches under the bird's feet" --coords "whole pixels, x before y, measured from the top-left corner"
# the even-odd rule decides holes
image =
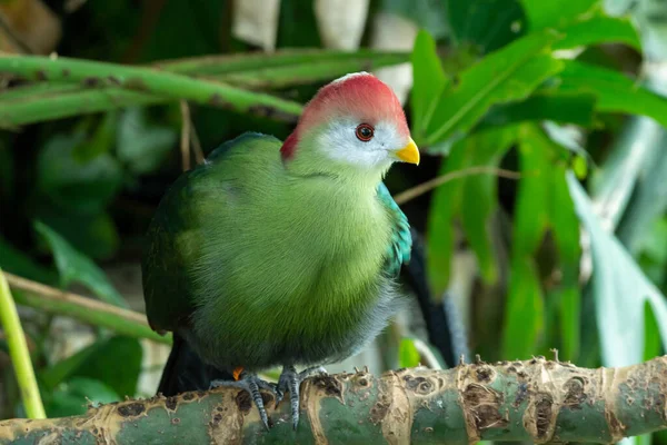
[[[218,388],[104,405],[78,417],[4,421],[0,443],[613,443],[667,427],[667,356],[599,369],[540,357],[381,377],[338,374],[303,385],[296,433],[289,404],[269,411],[273,427],[266,432],[246,393]],[[265,404],[273,406],[271,395]]]

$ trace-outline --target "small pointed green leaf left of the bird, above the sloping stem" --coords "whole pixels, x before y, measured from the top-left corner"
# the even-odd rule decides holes
[[[34,221],[34,229],[49,244],[53,253],[62,287],[67,287],[71,283],[80,283],[103,301],[121,307],[128,306],[122,296],[109,283],[104,273],[90,258],[77,251],[47,225]]]

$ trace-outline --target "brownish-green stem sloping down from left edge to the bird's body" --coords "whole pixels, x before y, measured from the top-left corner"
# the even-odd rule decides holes
[[[153,332],[143,314],[123,309],[103,301],[77,294],[62,291],[12,274],[4,274],[7,281],[17,293],[20,305],[34,307],[52,314],[67,315],[93,326],[106,327],[119,334],[136,338],[171,344],[171,338]]]

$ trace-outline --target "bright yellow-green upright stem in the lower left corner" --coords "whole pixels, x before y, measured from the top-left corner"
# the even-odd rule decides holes
[[[26,335],[21,327],[19,313],[14,305],[11,291],[4,274],[0,269],[0,325],[4,329],[7,344],[9,346],[9,356],[13,364],[14,374],[19,388],[21,389],[21,399],[26,407],[26,414],[29,418],[46,418],[44,406],[41,402],[37,380],[34,378],[34,369],[30,362],[30,353]]]

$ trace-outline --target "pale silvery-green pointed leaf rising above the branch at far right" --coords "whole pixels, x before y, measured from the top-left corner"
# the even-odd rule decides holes
[[[590,199],[574,175],[567,177],[577,214],[590,237],[591,291],[596,304],[604,366],[628,366],[643,362],[645,303],[658,322],[667,345],[667,303],[614,235],[600,224]]]

